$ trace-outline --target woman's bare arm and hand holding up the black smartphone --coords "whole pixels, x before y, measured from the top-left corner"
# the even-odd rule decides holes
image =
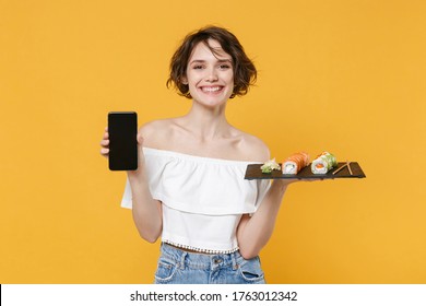
[[[149,243],[155,243],[163,229],[162,203],[153,199],[145,174],[145,158],[143,155],[144,129],[138,133],[138,169],[129,170],[128,178],[132,189],[132,215],[139,234]],[[105,157],[109,153],[108,128],[105,129],[100,141],[100,154]]]

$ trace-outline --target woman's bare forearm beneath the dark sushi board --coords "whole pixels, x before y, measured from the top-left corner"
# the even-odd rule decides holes
[[[271,238],[287,186],[284,180],[274,180],[256,213],[241,220],[237,237],[242,257],[257,256]]]

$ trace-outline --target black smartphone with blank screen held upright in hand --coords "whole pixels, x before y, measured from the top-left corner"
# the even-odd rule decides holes
[[[108,113],[109,169],[138,168],[138,114],[135,111]]]

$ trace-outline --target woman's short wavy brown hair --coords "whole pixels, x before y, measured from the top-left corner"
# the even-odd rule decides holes
[[[174,86],[179,94],[191,98],[188,84],[182,83],[187,74],[187,66],[192,50],[199,43],[205,44],[213,54],[217,51],[209,46],[209,39],[214,39],[221,44],[222,49],[233,59],[234,69],[234,92],[236,95],[247,94],[249,86],[255,84],[257,70],[252,61],[247,57],[237,37],[229,31],[218,26],[206,26],[188,34],[180,47],[176,50],[170,60],[170,75],[167,80],[167,87]]]

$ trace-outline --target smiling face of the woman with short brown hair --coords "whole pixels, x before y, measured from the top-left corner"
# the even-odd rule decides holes
[[[232,57],[226,54],[221,44],[209,39],[210,47],[200,43],[189,58],[187,78],[192,99],[204,106],[224,105],[234,90],[234,69]]]

